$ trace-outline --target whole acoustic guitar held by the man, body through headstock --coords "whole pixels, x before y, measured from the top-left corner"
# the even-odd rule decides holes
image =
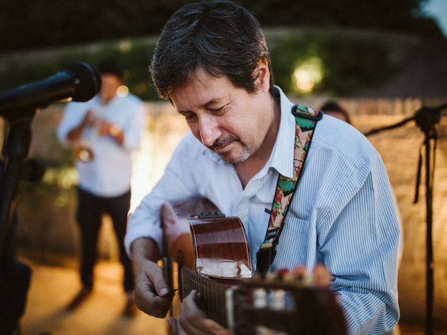
[[[200,202],[212,209],[210,202]],[[342,335],[342,309],[329,288],[281,272],[252,278],[244,225],[216,210],[193,216],[191,204],[163,206],[163,229],[171,241],[165,262],[171,292],[170,314],[177,316],[191,290],[200,292],[198,307],[235,334]]]

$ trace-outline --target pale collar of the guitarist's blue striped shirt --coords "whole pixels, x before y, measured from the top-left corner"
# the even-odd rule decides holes
[[[293,153],[295,149],[295,118],[291,113],[293,103],[288,100],[284,92],[277,86],[274,87],[279,91],[281,105],[281,121],[279,122],[279,131],[277,140],[274,143],[272,154],[261,174],[267,172],[269,168],[274,168],[284,177],[293,178]],[[204,148],[203,154],[212,158],[216,163],[225,164],[226,162],[214,151]]]

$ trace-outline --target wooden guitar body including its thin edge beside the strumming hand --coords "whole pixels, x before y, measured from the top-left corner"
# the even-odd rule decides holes
[[[183,297],[197,289],[182,278],[182,269],[212,278],[223,287],[241,278],[251,278],[244,225],[237,217],[218,216],[216,212],[215,205],[206,199],[189,200],[176,204],[175,208],[163,207],[161,221],[165,235],[166,230],[180,232],[173,237],[163,259],[170,291],[175,292],[170,308],[174,317],[179,315]]]

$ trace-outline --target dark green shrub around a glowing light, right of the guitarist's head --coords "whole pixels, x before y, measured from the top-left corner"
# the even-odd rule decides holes
[[[289,94],[302,95],[293,72],[307,61],[318,63],[321,82],[312,93],[349,96],[380,84],[397,70],[386,40],[376,36],[302,31],[269,38],[275,82]]]

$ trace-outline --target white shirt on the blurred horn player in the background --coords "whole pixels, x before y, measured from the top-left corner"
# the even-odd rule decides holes
[[[144,104],[132,94],[125,97],[115,96],[106,104],[103,104],[98,96],[86,103],[68,103],[57,130],[61,142],[68,143],[66,139],[68,132],[82,122],[89,110],[94,112],[98,121],[93,127],[85,128],[80,141],[89,145],[94,159],[88,162],[79,160],[76,162],[79,174],[78,186],[101,197],[122,195],[131,187],[131,152],[140,145],[145,126]],[[114,124],[124,132],[122,144],[110,136],[97,135],[101,120]]]

